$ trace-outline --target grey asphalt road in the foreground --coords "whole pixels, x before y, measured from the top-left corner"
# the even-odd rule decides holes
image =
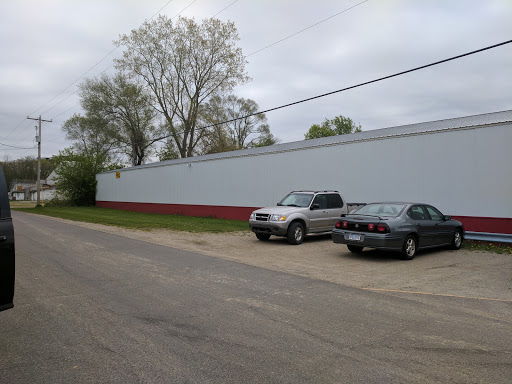
[[[512,381],[511,302],[369,292],[13,216],[1,383]]]

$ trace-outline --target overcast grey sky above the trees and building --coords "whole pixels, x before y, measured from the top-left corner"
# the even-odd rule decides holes
[[[0,143],[33,147],[37,122],[26,117],[41,114],[53,120],[43,124],[43,157],[70,146],[61,126],[81,112],[80,80],[75,81],[105,70],[113,73],[113,58],[121,49],[108,55],[115,48],[112,42],[162,7],[159,13],[169,17],[181,12],[202,20],[218,14],[235,23],[252,81],[234,93],[255,100],[260,110],[512,39],[510,0],[368,0],[355,6],[361,1],[2,1]],[[303,140],[312,124],[340,114],[371,130],[508,109],[512,44],[271,112],[267,118],[271,132],[290,142]],[[7,155],[37,156],[37,149],[0,145],[0,160]]]

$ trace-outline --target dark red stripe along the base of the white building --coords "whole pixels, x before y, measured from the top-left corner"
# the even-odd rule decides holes
[[[229,220],[249,220],[251,212],[259,209],[259,207],[129,203],[118,201],[97,201],[96,206],[125,211],[159,213],[162,215],[215,217],[217,219]],[[452,216],[452,218],[462,222],[466,231],[512,234],[512,218],[475,216]]]

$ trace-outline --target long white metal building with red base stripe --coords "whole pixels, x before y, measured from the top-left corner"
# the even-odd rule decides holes
[[[509,110],[105,172],[96,204],[247,220],[292,190],[334,189],[348,202],[429,203],[466,231],[506,240],[511,147]]]

